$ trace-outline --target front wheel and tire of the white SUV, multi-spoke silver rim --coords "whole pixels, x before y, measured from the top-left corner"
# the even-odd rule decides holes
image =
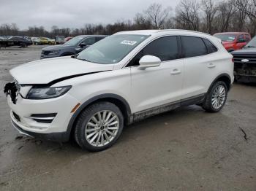
[[[75,124],[75,141],[91,152],[111,147],[124,128],[120,109],[110,102],[99,102],[84,109]]]

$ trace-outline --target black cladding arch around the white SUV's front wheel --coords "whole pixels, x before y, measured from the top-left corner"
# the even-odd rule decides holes
[[[112,93],[105,93],[102,95],[96,95],[93,98],[90,98],[88,101],[81,104],[75,113],[72,115],[71,119],[69,120],[69,124],[67,126],[67,133],[68,136],[72,134],[73,126],[75,125],[76,120],[78,119],[80,113],[83,109],[90,106],[91,104],[97,103],[99,101],[108,101],[110,103],[115,104],[121,110],[122,114],[124,115],[124,123],[129,123],[130,116],[131,116],[131,109],[128,102],[121,97],[120,95],[112,94]]]

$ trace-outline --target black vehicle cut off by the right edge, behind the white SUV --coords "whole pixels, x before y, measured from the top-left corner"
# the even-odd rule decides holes
[[[238,82],[256,82],[256,36],[241,50],[231,52]]]

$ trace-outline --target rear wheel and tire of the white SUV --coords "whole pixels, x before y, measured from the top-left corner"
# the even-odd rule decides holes
[[[206,95],[203,109],[206,112],[219,112],[227,101],[227,85],[225,82],[215,82]]]

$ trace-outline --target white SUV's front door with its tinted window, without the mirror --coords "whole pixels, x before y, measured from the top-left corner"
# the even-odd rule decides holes
[[[177,36],[163,36],[143,48],[130,61],[131,95],[135,112],[173,102],[179,103],[184,75]],[[154,55],[162,61],[160,66],[138,69],[143,55]]]

